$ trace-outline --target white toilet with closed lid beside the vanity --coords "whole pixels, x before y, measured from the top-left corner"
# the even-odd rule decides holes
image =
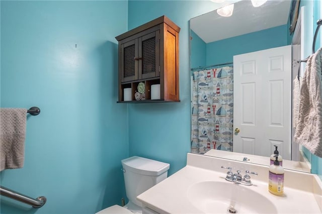
[[[125,191],[129,202],[125,206],[113,205],[97,214],[103,213],[142,213],[142,203],[136,200],[136,196],[151,188],[168,176],[169,163],[163,163],[147,158],[133,156],[121,161]]]

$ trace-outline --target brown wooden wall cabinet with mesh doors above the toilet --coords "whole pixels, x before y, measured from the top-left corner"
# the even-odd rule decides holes
[[[118,102],[178,102],[180,28],[166,16],[159,17],[117,37],[119,42]],[[136,100],[139,82],[145,99]],[[160,99],[151,99],[151,85],[160,84]],[[131,100],[124,101],[124,88]]]

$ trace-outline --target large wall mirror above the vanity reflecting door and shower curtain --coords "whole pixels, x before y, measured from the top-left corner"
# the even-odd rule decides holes
[[[310,171],[291,153],[290,8],[239,1],[190,20],[191,152],[269,165],[277,146],[284,168]]]

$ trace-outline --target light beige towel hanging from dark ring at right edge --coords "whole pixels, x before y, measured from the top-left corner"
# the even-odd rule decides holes
[[[307,60],[300,85],[295,141],[322,157],[322,48]]]

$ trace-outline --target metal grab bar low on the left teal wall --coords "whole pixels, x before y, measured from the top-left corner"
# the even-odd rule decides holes
[[[0,194],[4,195],[6,197],[10,197],[12,199],[21,201],[23,203],[27,203],[29,205],[32,205],[32,207],[34,207],[34,208],[42,207],[46,203],[46,200],[47,200],[47,198],[45,196],[40,196],[40,197],[37,197],[36,199],[34,199],[34,198],[31,198],[27,195],[16,192],[14,190],[5,188],[3,186],[0,186]]]

